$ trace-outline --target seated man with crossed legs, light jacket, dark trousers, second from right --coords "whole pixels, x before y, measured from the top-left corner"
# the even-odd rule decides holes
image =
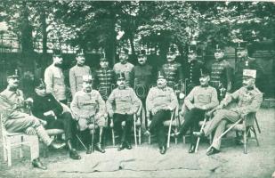
[[[199,77],[199,86],[195,86],[184,99],[182,111],[184,113],[184,122],[176,136],[186,134],[190,129],[190,150],[189,153],[195,151],[196,137],[193,132],[198,131],[198,122],[204,119],[206,110],[214,109],[219,104],[217,92],[214,87],[208,85],[210,80],[209,72],[201,69]],[[186,109],[186,108],[187,109]],[[182,113],[183,115],[183,113]]]

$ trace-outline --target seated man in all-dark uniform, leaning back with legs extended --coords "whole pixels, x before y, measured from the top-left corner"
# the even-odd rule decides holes
[[[32,107],[32,113],[35,117],[46,121],[44,127],[46,129],[63,129],[65,131],[65,139],[69,148],[69,158],[80,159],[77,150],[73,149],[73,119],[71,114],[64,111],[61,103],[57,101],[52,93],[46,93],[43,80],[36,81],[35,95]]]

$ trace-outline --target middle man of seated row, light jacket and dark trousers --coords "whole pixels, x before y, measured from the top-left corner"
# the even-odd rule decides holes
[[[141,106],[141,101],[136,96],[133,88],[126,86],[125,75],[120,73],[117,77],[117,88],[110,93],[106,107],[111,118],[110,125],[114,126],[119,134],[120,146],[117,150],[132,149],[130,142],[131,128],[133,126],[133,114],[136,114]],[[113,104],[114,108],[113,109]],[[125,123],[122,126],[122,123]]]

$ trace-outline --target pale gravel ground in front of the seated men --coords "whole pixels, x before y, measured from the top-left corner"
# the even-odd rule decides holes
[[[248,154],[243,154],[243,147],[236,146],[232,139],[222,140],[222,152],[207,157],[208,144],[202,142],[198,153],[187,153],[189,144],[180,141],[171,144],[166,155],[158,153],[157,144],[142,143],[133,150],[117,152],[109,148],[105,154],[94,152],[85,155],[80,151],[82,160],[68,158],[66,150],[51,150],[49,158],[41,157],[48,170],[42,171],[30,165],[29,151],[26,148],[24,158],[18,157],[18,150],[12,151],[12,167],[3,161],[3,145],[0,144],[0,177],[271,177],[275,171],[275,109],[261,109],[257,114],[262,134],[259,134],[260,147],[255,141],[248,141]],[[2,137],[1,137],[2,138]],[[2,140],[0,140],[2,142]],[[127,166],[121,169],[93,172],[90,168],[104,160],[142,160],[139,168]],[[146,161],[148,160],[148,161]],[[165,160],[166,164],[160,164]],[[127,163],[125,163],[127,164]],[[144,165],[145,164],[145,165]],[[144,169],[147,165],[149,169]],[[196,165],[197,164],[197,165]],[[142,168],[143,167],[143,168]]]

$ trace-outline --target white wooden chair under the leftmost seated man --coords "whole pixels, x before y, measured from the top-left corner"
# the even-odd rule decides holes
[[[12,149],[20,148],[20,158],[23,158],[23,146],[30,148],[30,160],[34,159],[34,153],[39,152],[39,142],[37,135],[27,135],[24,133],[9,133],[6,131],[3,123],[3,114],[0,114],[4,161],[8,166],[12,166]]]

